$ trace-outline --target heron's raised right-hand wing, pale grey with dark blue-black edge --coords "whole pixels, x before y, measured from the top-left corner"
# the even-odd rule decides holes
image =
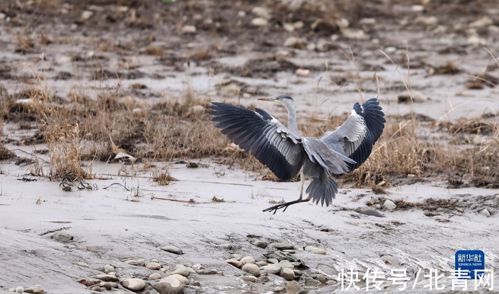
[[[327,132],[320,140],[328,147],[356,161],[349,163],[350,170],[359,167],[371,154],[385,128],[385,114],[377,98],[367,100],[362,106],[355,103],[352,114],[334,132]]]

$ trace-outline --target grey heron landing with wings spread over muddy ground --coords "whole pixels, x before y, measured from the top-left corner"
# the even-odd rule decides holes
[[[348,119],[335,131],[320,139],[304,137],[298,131],[293,98],[286,94],[260,98],[283,104],[287,109],[287,128],[267,112],[212,102],[210,112],[215,127],[222,129],[234,144],[249,152],[266,165],[279,179],[292,179],[300,172],[301,188],[298,200],[271,206],[263,211],[283,211],[291,204],[312,200],[322,206],[332,202],[338,193],[333,175],[358,168],[371,154],[385,127],[385,114],[377,98],[364,104],[355,103]],[[303,199],[305,176],[312,181]]]

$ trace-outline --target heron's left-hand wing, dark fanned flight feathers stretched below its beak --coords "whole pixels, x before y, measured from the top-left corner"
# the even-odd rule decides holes
[[[234,144],[253,155],[281,180],[293,178],[303,164],[300,139],[261,109],[251,111],[238,106],[212,102],[210,114],[215,127]]]

